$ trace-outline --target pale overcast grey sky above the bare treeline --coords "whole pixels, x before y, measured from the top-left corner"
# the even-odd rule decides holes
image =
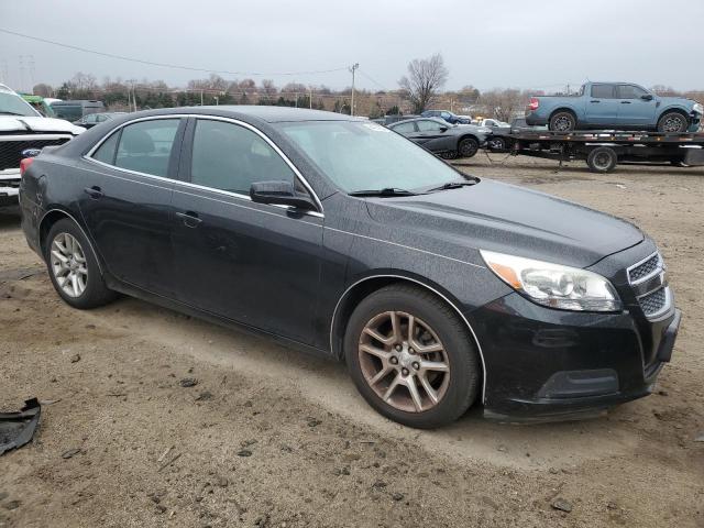
[[[0,30],[279,87],[344,88],[359,63],[358,88],[397,89],[409,61],[440,53],[446,89],[588,79],[704,89],[702,0],[0,0]],[[311,73],[321,70],[333,72]],[[208,76],[0,32],[0,81],[28,89],[77,72],[169,86]]]

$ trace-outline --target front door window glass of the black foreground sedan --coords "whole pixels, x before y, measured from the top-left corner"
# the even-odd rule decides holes
[[[294,170],[258,134],[239,124],[205,119],[196,123],[190,180],[248,196],[255,182],[297,185]]]

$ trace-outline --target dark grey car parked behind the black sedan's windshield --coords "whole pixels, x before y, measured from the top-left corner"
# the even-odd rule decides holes
[[[408,119],[388,128],[446,160],[472,157],[492,133],[483,127],[450,124],[438,118]]]

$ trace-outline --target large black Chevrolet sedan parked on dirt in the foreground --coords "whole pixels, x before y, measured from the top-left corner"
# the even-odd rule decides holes
[[[153,110],[22,167],[22,228],[67,304],[120,292],[343,360],[408,426],[475,402],[593,413],[649,394],[671,355],[680,314],[640,230],[365,120]]]

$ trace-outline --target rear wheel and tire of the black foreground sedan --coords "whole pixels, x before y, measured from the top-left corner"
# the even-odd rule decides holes
[[[97,308],[117,296],[106,286],[90,242],[68,218],[50,229],[44,243],[44,262],[56,293],[74,308]]]

